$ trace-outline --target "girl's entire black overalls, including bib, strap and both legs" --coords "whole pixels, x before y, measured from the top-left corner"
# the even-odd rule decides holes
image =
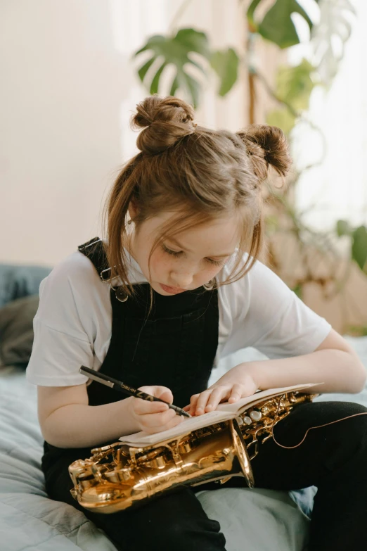
[[[79,250],[101,273],[107,268],[102,243],[88,246],[91,242]],[[217,291],[200,288],[174,296],[153,291],[153,310],[147,318],[150,287],[134,287],[136,297],[124,303],[111,290],[112,338],[101,372],[134,387],[167,386],[174,403],[183,407],[192,394],[207,388],[218,343]],[[87,388],[91,405],[122,399],[122,394],[95,381]],[[269,438],[251,461],[257,488],[295,490],[317,486],[308,551],[366,547],[366,412],[366,407],[353,402],[299,405],[273,430],[276,441],[290,448],[282,448]],[[357,417],[343,420],[351,415]],[[340,422],[335,423],[337,420]],[[321,428],[309,431],[302,445],[297,446],[315,426]],[[215,498],[220,500],[226,488],[245,486],[243,478],[233,477],[223,490],[213,482],[196,488],[183,486],[137,509],[101,514],[83,509],[70,495],[72,481],[67,467],[77,459],[90,457],[90,448],[64,450],[45,443],[44,451],[42,469],[49,496],[82,510],[119,551],[226,550],[219,522],[207,517],[195,493],[217,490]],[[233,497],[231,502],[235,506]],[[245,533],[237,538],[236,551],[245,551]]]

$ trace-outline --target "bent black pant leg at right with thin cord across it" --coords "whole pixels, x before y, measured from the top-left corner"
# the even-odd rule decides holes
[[[314,402],[295,407],[274,428],[278,443],[269,438],[252,460],[255,486],[295,490],[317,486],[309,551],[366,548],[367,408],[352,402]]]

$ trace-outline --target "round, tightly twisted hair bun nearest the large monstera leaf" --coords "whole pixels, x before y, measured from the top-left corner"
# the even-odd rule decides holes
[[[154,95],[138,103],[131,120],[135,128],[143,128],[136,145],[143,153],[160,153],[180,138],[195,132],[194,110],[174,96]]]

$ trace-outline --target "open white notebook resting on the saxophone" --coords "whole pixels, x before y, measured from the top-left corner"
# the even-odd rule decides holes
[[[196,429],[202,429],[204,426],[221,423],[227,419],[233,419],[236,415],[262,402],[265,398],[272,398],[273,396],[285,392],[300,391],[302,388],[309,388],[310,386],[316,386],[318,384],[320,383],[298,384],[294,386],[285,386],[283,388],[269,388],[267,391],[258,391],[251,396],[241,398],[233,404],[228,402],[219,404],[217,410],[213,412],[204,413],[196,417],[184,417],[183,422],[174,426],[172,429],[167,429],[167,431],[154,434],[148,434],[143,431],[136,432],[134,434],[128,434],[127,436],[122,436],[120,441],[124,444],[134,446],[135,448],[145,448],[146,446],[154,445],[162,441],[169,439],[173,440],[176,436],[188,434]]]

